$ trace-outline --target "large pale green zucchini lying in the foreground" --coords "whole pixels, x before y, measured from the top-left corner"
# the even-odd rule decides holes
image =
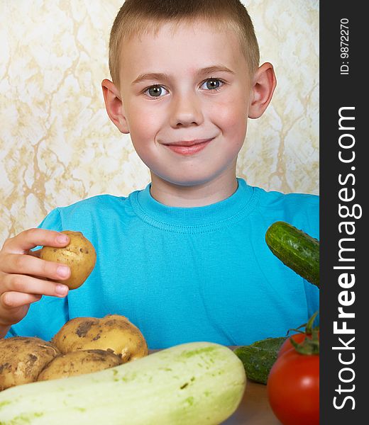
[[[193,342],[99,372],[11,387],[0,392],[0,424],[220,424],[245,387],[231,349]]]

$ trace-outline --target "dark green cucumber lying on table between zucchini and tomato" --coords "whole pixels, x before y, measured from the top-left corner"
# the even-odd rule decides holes
[[[262,339],[233,351],[241,359],[248,379],[266,385],[270,369],[277,360],[277,353],[285,340],[285,336]]]

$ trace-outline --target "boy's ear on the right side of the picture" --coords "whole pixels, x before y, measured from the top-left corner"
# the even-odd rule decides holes
[[[272,64],[265,62],[255,72],[251,87],[250,108],[248,118],[259,118],[269,105],[277,85],[277,79]]]

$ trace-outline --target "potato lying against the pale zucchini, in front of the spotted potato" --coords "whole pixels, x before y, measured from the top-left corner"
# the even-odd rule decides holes
[[[79,350],[67,354],[60,354],[50,361],[38,375],[38,381],[68,376],[83,375],[113,368],[121,364],[121,358],[111,351]]]

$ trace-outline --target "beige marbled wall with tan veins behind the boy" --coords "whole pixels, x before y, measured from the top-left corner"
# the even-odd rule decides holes
[[[201,1],[201,0],[199,0]],[[319,2],[245,0],[277,90],[250,120],[238,176],[319,193]],[[0,0],[0,246],[53,208],[126,196],[146,167],[104,110],[107,45],[121,0]]]

